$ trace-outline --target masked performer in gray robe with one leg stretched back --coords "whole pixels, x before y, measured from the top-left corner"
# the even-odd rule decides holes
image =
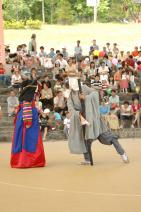
[[[113,145],[122,160],[128,163],[128,157],[118,142],[118,136],[113,134],[101,119],[98,92],[83,85],[83,93],[80,94],[76,87],[78,85],[72,87],[67,100],[68,111],[71,114],[68,136],[70,152],[84,155],[82,165],[93,165],[91,145],[94,140],[98,139],[102,144]],[[84,121],[83,123],[81,122],[81,117],[83,116],[82,100],[85,104],[85,133],[83,133],[82,127]]]

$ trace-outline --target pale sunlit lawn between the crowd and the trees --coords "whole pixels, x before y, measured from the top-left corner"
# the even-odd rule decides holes
[[[14,49],[18,44],[27,43],[31,34],[37,34],[38,47],[44,45],[49,51],[66,46],[73,53],[76,40],[81,40],[86,54],[93,39],[102,47],[106,42],[117,42],[120,49],[130,50],[141,46],[141,24],[77,24],[72,26],[45,25],[41,30],[5,30],[5,44]]]

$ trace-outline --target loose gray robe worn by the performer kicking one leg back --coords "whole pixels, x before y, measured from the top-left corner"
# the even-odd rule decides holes
[[[85,115],[90,126],[85,127],[85,138],[80,123],[79,112],[82,111],[81,102],[77,91],[71,91],[67,100],[68,110],[71,112],[71,125],[69,130],[68,145],[73,154],[86,153],[84,140],[96,140],[97,137],[107,131],[106,125],[100,118],[99,94],[97,91],[84,85],[82,87],[85,95]]]

